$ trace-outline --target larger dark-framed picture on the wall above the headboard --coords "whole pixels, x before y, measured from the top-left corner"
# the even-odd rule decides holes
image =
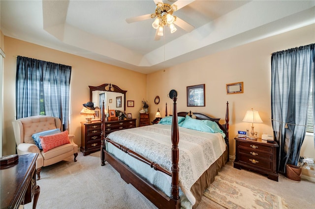
[[[206,106],[205,84],[187,86],[187,106]]]

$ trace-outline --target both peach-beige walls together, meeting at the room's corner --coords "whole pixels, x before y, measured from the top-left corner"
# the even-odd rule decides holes
[[[271,126],[271,53],[303,46],[315,42],[315,25],[305,26],[280,35],[266,38],[230,50],[218,52],[187,63],[176,65],[149,75],[96,62],[83,57],[40,47],[4,36],[6,58],[4,59],[4,135],[2,155],[15,152],[11,122],[15,119],[15,55],[62,63],[72,66],[71,74],[71,124],[70,133],[76,135],[76,143],[81,145],[79,114],[82,104],[89,100],[88,86],[111,82],[127,90],[126,100],[134,100],[135,107],[126,107],[127,113],[138,116],[142,99],[149,102],[150,118],[155,118],[158,108],[164,117],[165,103],[171,114],[172,104],[167,97],[171,89],[178,92],[178,111],[193,111],[211,114],[223,119],[225,103],[229,102],[230,113],[230,154],[235,153],[234,136],[238,130],[251,128],[242,122],[247,109],[259,110],[264,123],[255,124],[258,136],[272,134]],[[95,74],[90,76],[91,74]],[[226,83],[244,82],[243,94],[226,94]],[[186,87],[205,83],[206,106],[188,107]],[[154,104],[156,96],[160,103]],[[315,157],[313,136],[307,136],[301,156]],[[313,155],[313,156],[312,156]],[[311,175],[314,175],[314,168]]]

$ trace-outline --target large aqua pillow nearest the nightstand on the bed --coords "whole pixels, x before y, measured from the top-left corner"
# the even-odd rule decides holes
[[[210,120],[197,120],[192,119],[188,115],[182,124],[183,128],[192,129],[196,131],[203,131],[209,133],[221,133],[225,137],[224,132],[220,129],[218,124]]]

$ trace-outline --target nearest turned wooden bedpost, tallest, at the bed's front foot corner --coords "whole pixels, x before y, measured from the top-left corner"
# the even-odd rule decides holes
[[[178,133],[178,119],[177,119],[177,97],[173,97],[173,119],[172,119],[172,195],[173,200],[179,200],[179,133]]]

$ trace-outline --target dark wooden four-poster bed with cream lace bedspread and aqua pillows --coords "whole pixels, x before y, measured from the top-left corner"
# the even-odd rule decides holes
[[[197,120],[191,112],[177,113],[176,100],[172,115],[178,117],[156,125],[114,131],[105,138],[102,123],[101,165],[107,161],[158,208],[195,208],[228,161],[228,102],[221,125],[220,118],[202,113],[192,113]],[[195,122],[196,129],[206,123],[211,131],[187,127]]]

